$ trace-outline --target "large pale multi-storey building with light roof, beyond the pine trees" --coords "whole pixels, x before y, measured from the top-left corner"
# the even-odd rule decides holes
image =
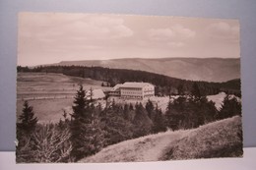
[[[122,99],[145,99],[155,95],[155,86],[149,83],[127,82],[115,85],[109,95]]]

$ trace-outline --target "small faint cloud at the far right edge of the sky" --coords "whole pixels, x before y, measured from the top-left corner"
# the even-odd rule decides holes
[[[239,27],[231,26],[230,24],[219,22],[211,24],[207,27],[207,31],[211,36],[220,38],[238,38]]]

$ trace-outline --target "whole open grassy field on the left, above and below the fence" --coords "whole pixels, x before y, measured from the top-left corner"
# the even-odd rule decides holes
[[[18,73],[17,115],[22,113],[24,100],[32,105],[40,123],[57,122],[63,110],[72,111],[72,103],[79,85],[102,88],[101,82],[54,73]]]

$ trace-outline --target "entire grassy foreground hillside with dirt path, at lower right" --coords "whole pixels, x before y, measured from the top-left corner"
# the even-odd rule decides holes
[[[120,142],[80,162],[159,161],[242,155],[241,118]]]

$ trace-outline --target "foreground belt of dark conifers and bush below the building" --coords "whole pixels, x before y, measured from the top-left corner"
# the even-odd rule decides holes
[[[89,95],[89,96],[87,96]],[[220,111],[202,95],[197,84],[191,95],[180,95],[168,102],[165,113],[148,100],[145,106],[108,101],[95,104],[93,90],[80,85],[73,102],[73,113],[56,124],[38,124],[32,106],[24,103],[17,122],[17,162],[76,162],[101,148],[150,134],[197,128],[216,120],[241,115],[235,97],[226,95]]]

